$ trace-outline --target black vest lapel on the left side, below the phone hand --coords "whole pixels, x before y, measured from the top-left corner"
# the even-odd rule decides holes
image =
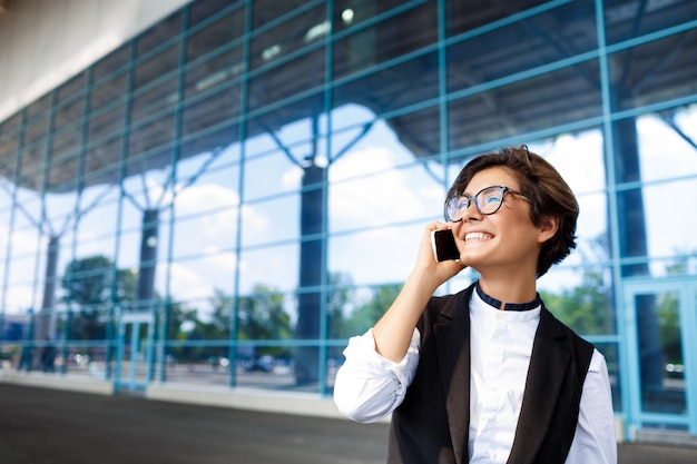
[[[441,310],[442,320],[434,324],[435,346],[450,436],[458,464],[469,461],[470,432],[470,313],[472,287],[461,292]]]

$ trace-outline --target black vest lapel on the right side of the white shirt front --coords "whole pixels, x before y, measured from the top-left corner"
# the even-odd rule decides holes
[[[571,361],[571,355],[557,342],[558,337],[563,337],[561,329],[554,324],[553,316],[542,307],[508,464],[532,463],[550,427]]]

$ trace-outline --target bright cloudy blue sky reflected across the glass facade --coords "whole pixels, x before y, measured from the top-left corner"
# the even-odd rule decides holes
[[[342,130],[334,132],[331,139],[332,156],[338,158],[332,159],[330,168],[328,229],[333,235],[327,245],[328,269],[347,274],[361,285],[401,283],[415,258],[423,226],[442,216],[443,167],[436,162],[418,162],[384,121],[364,126],[371,120],[367,116],[360,107],[344,107],[334,113],[334,129],[341,127]],[[687,206],[697,197],[697,155],[685,139],[657,117],[642,117],[637,124],[642,177],[655,182],[646,186],[644,191],[649,256],[694,251],[697,238],[693,231],[697,228],[697,219],[687,213]],[[676,124],[688,137],[697,138],[697,109],[678,115]],[[326,135],[327,127],[323,118],[321,135]],[[311,146],[304,142],[310,134],[310,124],[298,121],[276,135],[283,145],[291,146],[289,155],[302,159],[312,152]],[[592,258],[590,243],[607,228],[602,144],[599,130],[562,135],[553,141],[530,142],[532,151],[559,169],[581,206],[579,249],[565,261],[566,265],[579,265],[583,257]],[[326,139],[321,137],[317,145],[324,150]],[[326,162],[326,154],[322,150],[317,155],[324,157],[321,162]],[[160,220],[167,224],[160,227],[158,293],[166,290],[167,278],[173,297],[179,300],[205,299],[215,288],[230,293],[238,259],[235,247],[239,213],[243,227],[243,253],[238,264],[240,292],[248,293],[256,284],[284,292],[297,286],[302,169],[268,135],[249,139],[245,154],[251,159],[244,166],[242,209],[238,145],[225,148],[217,156],[205,154],[188,158],[177,166],[177,185],[187,187],[174,187],[177,191],[175,217],[184,219],[175,225],[175,261],[167,267],[167,208],[160,215]],[[449,182],[460,168],[459,165],[448,167]],[[137,267],[141,208],[158,201],[166,206],[173,200],[173,187],[167,185],[170,175],[165,169],[128,178],[124,187],[131,200],[122,203],[120,224],[117,223],[118,188],[95,186],[85,190],[80,208],[87,213],[80,218],[75,246],[72,224],[65,230],[59,273],[62,274],[73,256],[114,256],[117,248],[114,235],[118,228],[121,241],[116,260],[119,267]],[[662,182],[676,177],[686,179]],[[11,203],[10,194],[11,190],[0,190],[0,200],[4,205]],[[59,225],[73,211],[76,196],[48,197],[47,208],[50,208],[55,224]],[[674,200],[666,201],[666,198]],[[36,305],[42,292],[41,285],[33,285],[33,279],[42,278],[46,238],[37,254],[37,229],[27,217],[29,214],[36,221],[41,215],[41,203],[36,192],[24,189],[19,190],[19,199],[26,213],[18,211],[14,219],[10,263],[13,285],[6,295],[8,313]],[[3,259],[9,224],[9,211],[0,211]],[[3,279],[4,273],[2,268],[0,277]],[[553,290],[569,286],[570,280],[569,273],[560,270],[557,275],[550,273],[543,277],[540,285]],[[458,276],[451,290],[469,282],[469,275]]]

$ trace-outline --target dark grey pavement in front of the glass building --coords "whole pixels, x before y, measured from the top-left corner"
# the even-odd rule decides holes
[[[382,464],[386,443],[384,423],[0,384],[1,464]],[[697,463],[697,447],[618,451],[620,464]]]

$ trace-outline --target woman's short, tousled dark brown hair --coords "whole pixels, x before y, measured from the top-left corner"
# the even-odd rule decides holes
[[[469,161],[450,187],[448,198],[462,194],[474,175],[493,167],[508,168],[513,172],[520,182],[519,191],[530,199],[530,220],[533,225],[541,226],[550,217],[559,220],[557,234],[540,249],[537,276],[541,277],[576,248],[579,214],[576,196],[549,161],[521,145],[488,152]]]

